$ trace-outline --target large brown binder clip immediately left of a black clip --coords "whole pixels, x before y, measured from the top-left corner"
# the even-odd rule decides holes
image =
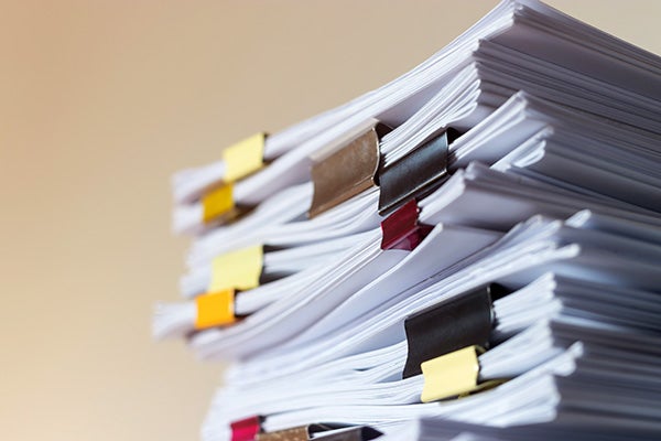
[[[391,129],[373,122],[339,150],[313,160],[314,194],[307,216],[313,218],[377,185],[380,163],[379,142]]]

